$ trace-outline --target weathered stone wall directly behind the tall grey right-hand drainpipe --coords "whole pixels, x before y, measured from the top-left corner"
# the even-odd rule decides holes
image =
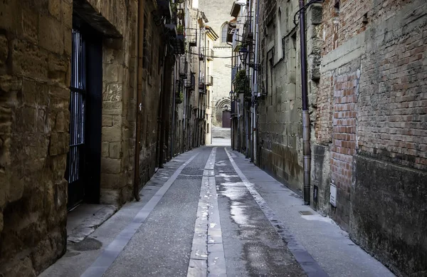
[[[295,191],[302,190],[300,34],[293,23],[298,1],[260,4],[260,85],[258,146],[260,167]],[[321,9],[320,9],[321,11]],[[315,120],[321,21],[319,9],[307,10],[310,118]],[[320,18],[319,18],[320,17]]]

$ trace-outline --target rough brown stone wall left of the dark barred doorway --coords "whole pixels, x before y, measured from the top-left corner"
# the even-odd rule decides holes
[[[65,251],[71,1],[0,3],[0,275]]]

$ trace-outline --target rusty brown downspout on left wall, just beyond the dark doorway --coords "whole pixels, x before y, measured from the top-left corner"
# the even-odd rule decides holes
[[[140,35],[143,26],[142,26],[142,14],[144,13],[142,0],[138,1],[138,68],[137,68],[137,126],[135,134],[135,166],[134,166],[134,187],[133,187],[133,196],[135,200],[139,201],[139,150],[141,149],[141,113],[142,113],[142,36]]]

